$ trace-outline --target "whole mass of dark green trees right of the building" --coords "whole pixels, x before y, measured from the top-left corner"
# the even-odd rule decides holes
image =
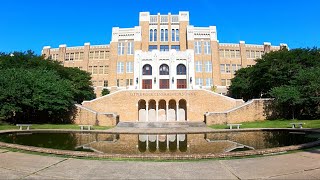
[[[236,72],[229,95],[244,100],[274,98],[283,118],[320,117],[320,49],[282,49]]]

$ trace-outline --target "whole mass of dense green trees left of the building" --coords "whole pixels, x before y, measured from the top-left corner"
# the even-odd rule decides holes
[[[9,122],[70,122],[74,104],[95,98],[90,74],[32,51],[0,53],[0,118]]]

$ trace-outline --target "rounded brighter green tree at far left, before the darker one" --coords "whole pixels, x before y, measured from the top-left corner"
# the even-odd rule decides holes
[[[0,70],[0,116],[12,122],[67,122],[72,110],[69,80],[44,69]]]

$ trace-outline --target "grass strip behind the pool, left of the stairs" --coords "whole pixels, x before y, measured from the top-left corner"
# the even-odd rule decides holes
[[[106,130],[110,127],[106,126],[93,126],[95,130]],[[10,124],[1,124],[0,130],[19,129],[19,127]],[[77,129],[80,130],[79,125],[76,124],[32,124],[30,129]]]

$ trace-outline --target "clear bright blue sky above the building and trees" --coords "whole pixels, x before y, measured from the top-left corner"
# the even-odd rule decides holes
[[[319,0],[3,0],[0,52],[109,44],[112,27],[139,25],[140,11],[189,11],[191,25],[217,26],[223,43],[320,47]]]

